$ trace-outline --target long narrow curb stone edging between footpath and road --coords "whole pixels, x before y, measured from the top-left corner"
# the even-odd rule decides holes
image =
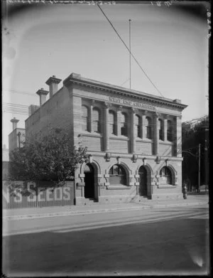
[[[126,211],[126,210],[145,210],[145,209],[152,209],[152,208],[171,208],[171,207],[178,207],[178,206],[188,206],[188,205],[207,205],[209,202],[194,202],[194,203],[179,203],[179,204],[169,204],[169,205],[141,205],[140,207],[134,208],[100,208],[95,210],[84,210],[84,211],[68,211],[68,212],[59,212],[59,213],[38,213],[38,214],[31,214],[31,215],[11,215],[11,216],[3,216],[3,220],[20,220],[20,219],[35,219],[35,218],[49,218],[49,217],[56,217],[56,216],[68,216],[68,215],[85,215],[85,214],[92,214],[92,213],[108,213],[114,211]]]

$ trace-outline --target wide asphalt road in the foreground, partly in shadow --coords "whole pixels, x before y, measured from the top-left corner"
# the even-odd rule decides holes
[[[207,205],[3,223],[6,276],[203,275]]]

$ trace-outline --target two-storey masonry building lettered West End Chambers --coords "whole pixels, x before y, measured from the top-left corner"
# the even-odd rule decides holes
[[[40,107],[26,119],[26,138],[67,129],[89,158],[75,171],[76,204],[182,198],[181,114],[187,107],[72,73],[54,75],[36,92]],[[50,93],[49,100],[46,95]]]

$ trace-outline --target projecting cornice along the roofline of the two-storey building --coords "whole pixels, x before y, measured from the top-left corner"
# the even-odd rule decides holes
[[[75,84],[75,85],[80,85],[82,87],[89,87],[92,89],[98,89],[103,92],[112,92],[116,93],[116,95],[124,96],[124,97],[133,97],[136,100],[144,100],[147,102],[152,102],[155,105],[167,105],[170,107],[176,107],[180,109],[185,109],[187,105],[183,105],[180,103],[175,103],[173,100],[163,98],[163,97],[156,97],[154,95],[148,95],[144,92],[139,92],[135,90],[128,90],[122,87],[114,86],[114,85],[109,85],[107,83],[102,83],[102,82],[96,82],[94,80],[86,80],[85,78],[82,77],[72,77],[71,75],[67,77],[63,84],[65,86]],[[143,95],[142,95],[143,94]],[[145,95],[146,94],[146,95]]]

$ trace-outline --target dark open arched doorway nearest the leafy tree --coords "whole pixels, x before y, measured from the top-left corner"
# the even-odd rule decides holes
[[[94,168],[92,164],[84,166],[84,198],[94,199]]]

